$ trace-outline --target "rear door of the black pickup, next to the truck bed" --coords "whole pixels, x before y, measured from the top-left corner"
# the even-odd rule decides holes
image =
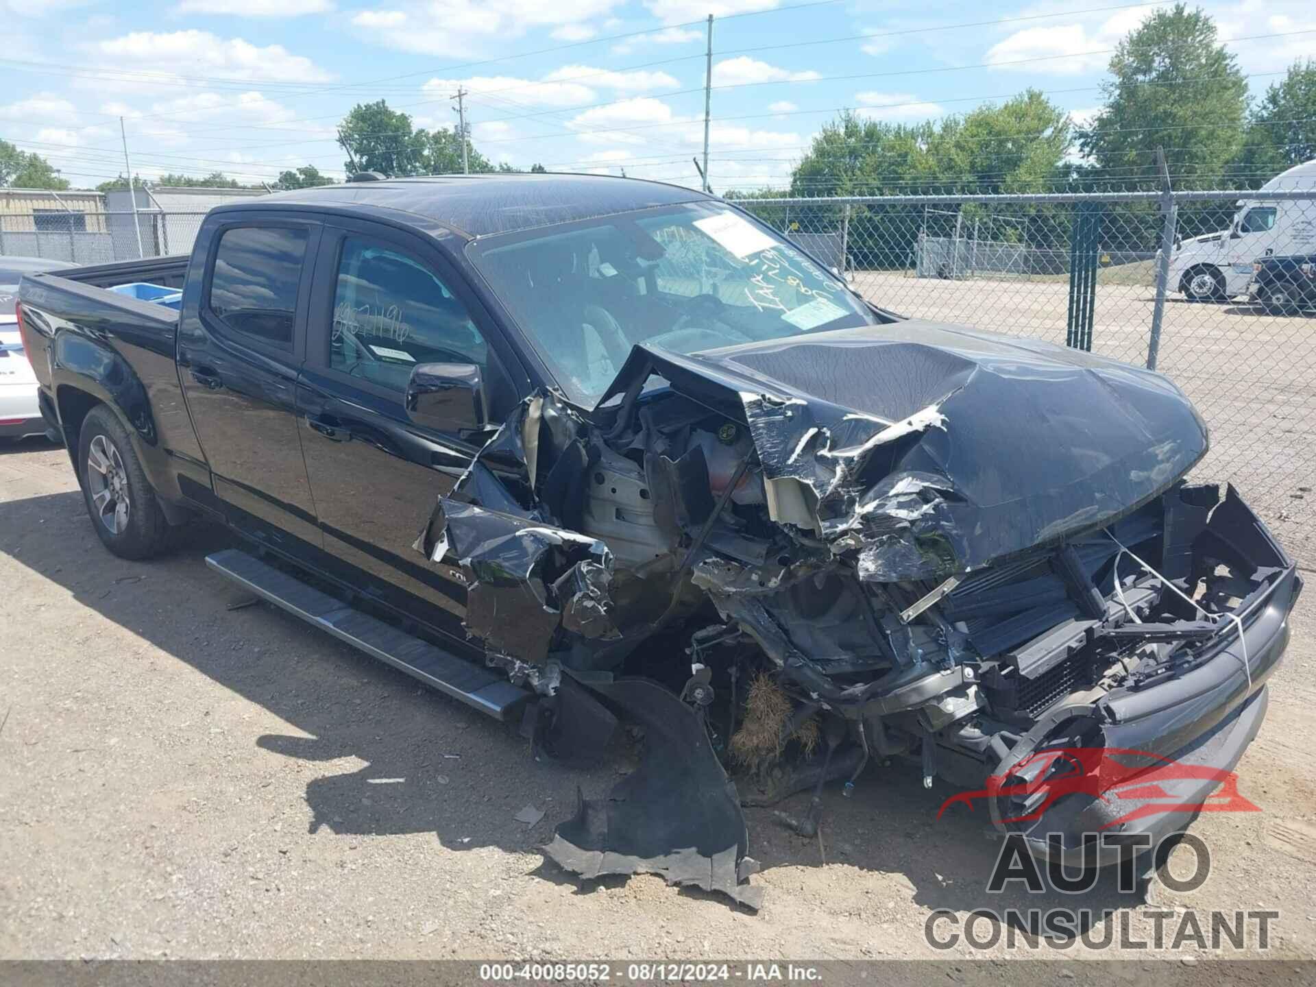
[[[200,304],[179,322],[179,378],[229,521],[313,559],[315,503],[297,438],[296,382],[321,226],[271,211],[225,213]]]

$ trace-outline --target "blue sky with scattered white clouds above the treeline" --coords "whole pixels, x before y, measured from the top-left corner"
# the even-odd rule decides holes
[[[1316,58],[1311,0],[1200,4],[1254,96]],[[782,187],[844,109],[915,122],[1033,87],[1090,118],[1116,42],[1158,7],[876,0],[0,0],[0,138],[75,187],[133,171],[343,176],[334,128],[384,99],[550,171],[699,186],[707,24],[709,180]]]

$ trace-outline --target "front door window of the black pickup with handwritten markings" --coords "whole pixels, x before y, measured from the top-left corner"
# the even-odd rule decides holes
[[[475,363],[490,376],[484,337],[425,263],[349,237],[338,261],[330,368],[401,393],[417,363]]]

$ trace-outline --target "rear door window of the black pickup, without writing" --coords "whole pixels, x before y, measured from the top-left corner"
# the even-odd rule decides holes
[[[220,237],[211,275],[211,311],[230,329],[292,350],[297,284],[307,230],[237,226]]]

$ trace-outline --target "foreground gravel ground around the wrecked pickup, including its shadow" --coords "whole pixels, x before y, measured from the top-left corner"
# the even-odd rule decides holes
[[[984,819],[938,821],[950,790],[874,766],[851,799],[829,790],[821,841],[749,813],[753,915],[545,863],[576,786],[600,794],[633,751],[536,763],[513,728],[292,617],[228,609],[242,595],[203,563],[225,544],[197,528],[170,558],[116,559],[62,450],[0,451],[0,955],[924,957],[944,955],[933,909],[1065,904],[1128,912],[1144,937],[1155,908],[1273,908],[1270,955],[1316,957],[1316,594],[1238,769],[1262,811],[1203,816],[1198,891],[988,895]],[[515,821],[525,805],[546,815]]]

